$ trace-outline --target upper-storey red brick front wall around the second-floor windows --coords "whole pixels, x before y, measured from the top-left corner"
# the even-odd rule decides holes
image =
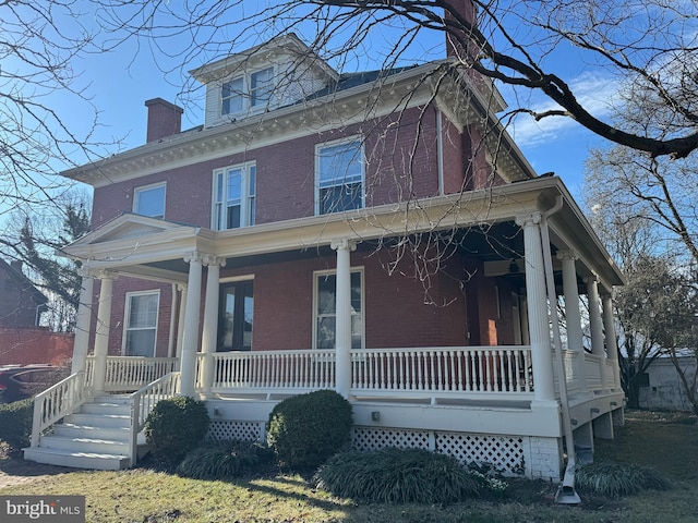
[[[421,123],[420,123],[421,115]],[[365,136],[366,205],[434,196],[438,190],[435,111],[410,109],[386,121],[349,125],[95,190],[93,229],[133,208],[133,190],[167,181],[165,218],[210,227],[213,171],[256,161],[256,223],[314,215],[315,145]],[[417,144],[417,145],[416,145]],[[412,155],[410,157],[410,155]]]

